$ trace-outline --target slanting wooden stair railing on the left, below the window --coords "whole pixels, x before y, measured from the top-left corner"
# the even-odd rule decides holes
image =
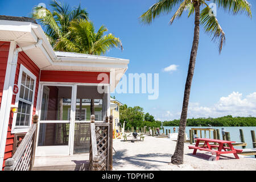
[[[12,158],[5,161],[5,171],[30,171],[34,164],[36,130],[38,115],[33,116],[33,123]]]

